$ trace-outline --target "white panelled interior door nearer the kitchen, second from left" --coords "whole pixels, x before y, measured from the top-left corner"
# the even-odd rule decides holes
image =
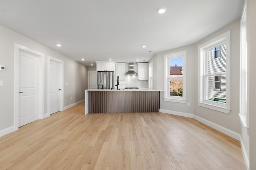
[[[50,114],[60,111],[60,63],[50,60]]]

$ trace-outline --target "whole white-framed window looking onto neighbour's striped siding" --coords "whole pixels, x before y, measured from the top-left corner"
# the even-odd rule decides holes
[[[230,111],[230,31],[200,45],[198,105]]]

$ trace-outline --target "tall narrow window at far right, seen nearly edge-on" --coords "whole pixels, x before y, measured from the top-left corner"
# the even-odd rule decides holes
[[[249,113],[247,111],[247,93],[248,93],[248,79],[247,79],[247,11],[246,1],[244,2],[244,10],[241,17],[240,32],[240,113],[239,117],[244,127],[249,128]]]

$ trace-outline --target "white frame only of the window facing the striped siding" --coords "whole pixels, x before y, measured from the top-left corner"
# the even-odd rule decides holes
[[[207,68],[206,52],[226,42],[226,104],[206,100],[207,83],[205,69]],[[215,50],[215,49],[214,49]],[[220,57],[216,58],[219,59]],[[230,112],[230,31],[219,35],[206,43],[198,46],[198,106],[206,107],[223,113]],[[220,75],[220,74],[215,74]],[[215,76],[212,74],[212,76]]]

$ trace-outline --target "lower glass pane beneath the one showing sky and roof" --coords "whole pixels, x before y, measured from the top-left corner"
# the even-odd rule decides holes
[[[169,78],[169,96],[183,95],[183,78]]]

